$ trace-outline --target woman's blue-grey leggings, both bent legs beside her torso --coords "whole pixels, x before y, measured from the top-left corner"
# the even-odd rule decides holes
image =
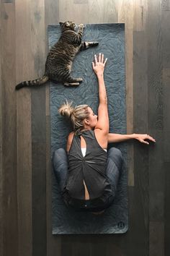
[[[112,195],[115,197],[117,184],[122,170],[122,153],[117,148],[110,148],[107,152],[107,169],[106,175],[112,187]],[[68,175],[68,154],[63,148],[55,150],[53,155],[53,169],[58,185],[63,191]]]

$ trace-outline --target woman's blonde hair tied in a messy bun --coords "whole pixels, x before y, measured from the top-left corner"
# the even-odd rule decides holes
[[[71,124],[75,132],[84,127],[83,121],[89,117],[88,105],[84,104],[73,107],[72,102],[68,103],[67,101],[58,109],[58,112],[61,116],[71,119]]]

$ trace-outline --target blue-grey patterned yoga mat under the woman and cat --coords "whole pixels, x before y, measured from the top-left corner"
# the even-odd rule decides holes
[[[59,25],[48,26],[49,46],[59,39]],[[92,70],[94,54],[108,58],[104,80],[108,95],[110,132],[126,133],[125,105],[125,25],[86,25],[83,40],[98,41],[99,46],[81,51],[73,61],[73,75],[82,77],[79,87],[64,87],[50,82],[51,155],[58,148],[66,148],[66,138],[71,128],[59,116],[58,108],[66,100],[74,105],[88,104],[97,113],[98,85]],[[126,162],[125,145],[117,145]],[[102,215],[74,212],[66,208],[58,184],[53,178],[53,234],[113,234],[128,230],[127,171],[124,166],[113,205]]]

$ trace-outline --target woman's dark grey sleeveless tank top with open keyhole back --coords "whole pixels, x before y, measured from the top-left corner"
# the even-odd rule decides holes
[[[86,141],[86,155],[81,152],[81,136]],[[84,182],[89,192],[89,199],[101,197],[108,188],[105,175],[107,153],[99,145],[93,130],[81,132],[73,136],[68,152],[69,171],[66,191],[70,197],[84,200]]]

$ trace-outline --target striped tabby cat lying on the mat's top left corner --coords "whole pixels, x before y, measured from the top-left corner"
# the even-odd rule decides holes
[[[71,67],[76,54],[86,48],[97,46],[98,42],[82,42],[84,25],[80,24],[76,33],[74,22],[60,22],[61,38],[51,48],[45,63],[45,74],[32,81],[24,81],[16,86],[16,90],[23,87],[43,85],[48,80],[63,82],[64,85],[79,85],[82,78],[71,76]]]

